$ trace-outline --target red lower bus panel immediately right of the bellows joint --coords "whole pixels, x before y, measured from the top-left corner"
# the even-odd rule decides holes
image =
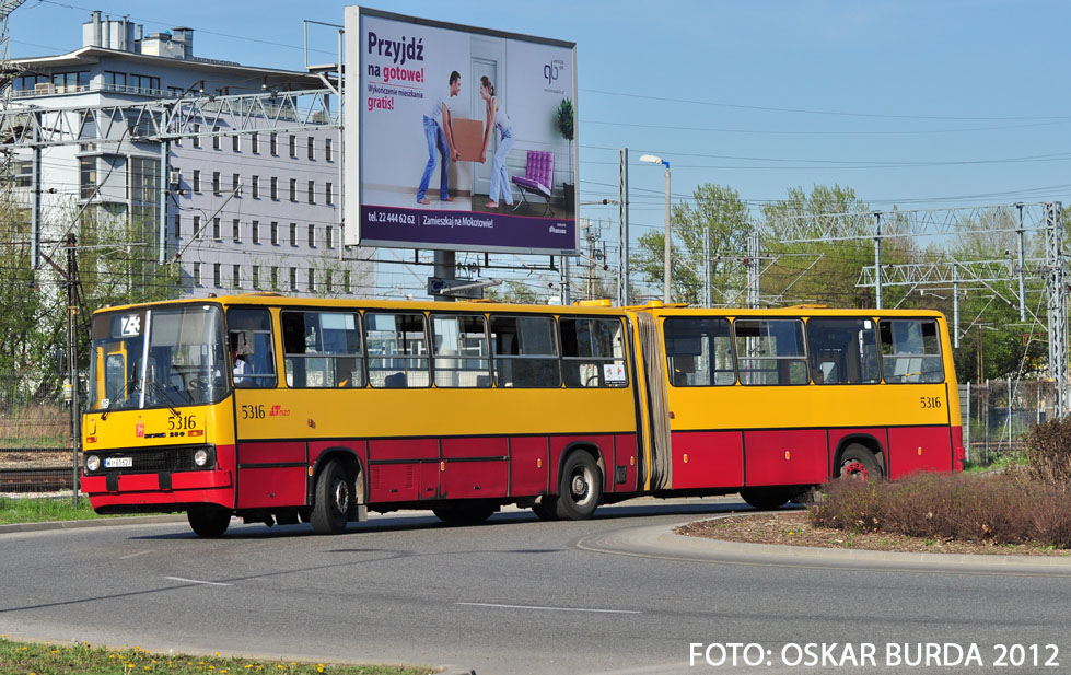
[[[673,489],[741,485],[744,485],[744,453],[740,431],[673,433]]]

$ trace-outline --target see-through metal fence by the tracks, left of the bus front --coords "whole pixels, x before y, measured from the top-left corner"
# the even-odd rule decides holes
[[[0,492],[70,490],[78,457],[70,400],[56,377],[0,377]]]

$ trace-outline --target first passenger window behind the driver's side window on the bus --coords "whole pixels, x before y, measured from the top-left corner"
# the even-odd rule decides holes
[[[283,312],[280,321],[287,386],[364,386],[360,317],[356,312]]]

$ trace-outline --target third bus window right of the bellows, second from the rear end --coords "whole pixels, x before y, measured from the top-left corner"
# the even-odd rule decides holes
[[[869,318],[812,318],[807,350],[815,384],[875,384],[877,336]]]

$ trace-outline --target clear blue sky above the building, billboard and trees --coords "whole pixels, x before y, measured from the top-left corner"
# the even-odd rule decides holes
[[[81,23],[100,9],[147,32],[193,27],[198,56],[301,69],[302,20],[341,23],[345,5],[30,0],[11,18],[12,54],[79,47]],[[663,174],[636,163],[643,152],[671,162],[675,200],[717,183],[756,208],[815,184],[851,186],[883,209],[1071,201],[1066,2],[366,7],[575,42],[580,199],[615,196],[617,149],[628,147],[635,234],[662,225]],[[326,30],[314,36],[334,51]]]

